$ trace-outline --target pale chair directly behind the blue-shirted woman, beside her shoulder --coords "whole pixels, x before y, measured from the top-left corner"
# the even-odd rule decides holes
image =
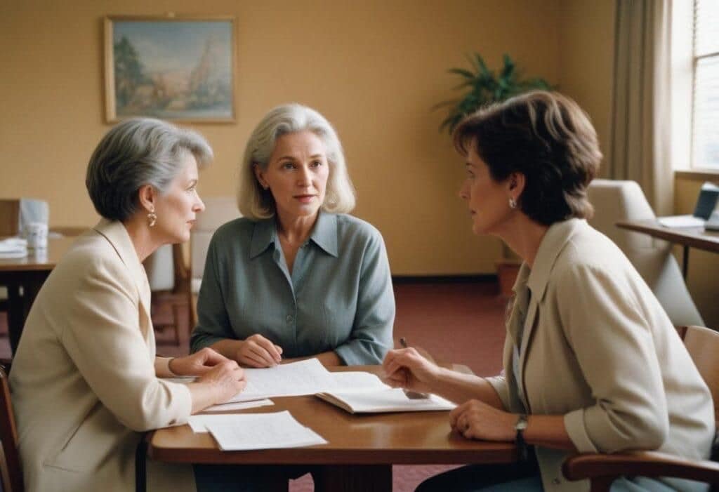
[[[197,322],[195,300],[202,284],[202,274],[205,271],[205,259],[210,239],[219,226],[240,217],[237,209],[237,199],[234,197],[206,198],[203,201],[205,211],[197,215],[195,226],[192,228],[190,235],[190,285],[193,297],[193,302],[191,303],[193,325]]]

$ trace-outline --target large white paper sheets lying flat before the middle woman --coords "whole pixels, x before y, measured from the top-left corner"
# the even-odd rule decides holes
[[[386,387],[374,374],[331,373],[316,358],[279,366],[244,370],[247,386],[229,402],[247,402],[274,396],[301,396],[334,389]]]

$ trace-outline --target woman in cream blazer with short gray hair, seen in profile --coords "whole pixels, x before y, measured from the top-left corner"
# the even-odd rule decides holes
[[[28,491],[132,490],[142,432],[186,423],[244,388],[237,362],[209,348],[155,355],[142,267],[163,244],[188,240],[204,210],[198,167],[211,158],[202,136],[155,119],[118,124],[93,152],[86,185],[102,219],[48,277],[13,360]],[[170,376],[197,379],[160,379]],[[147,463],[152,490],[194,490],[192,473]]]

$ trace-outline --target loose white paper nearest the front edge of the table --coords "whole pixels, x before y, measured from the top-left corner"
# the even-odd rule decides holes
[[[296,421],[290,412],[229,414],[205,423],[223,451],[265,450],[327,444],[319,434]]]

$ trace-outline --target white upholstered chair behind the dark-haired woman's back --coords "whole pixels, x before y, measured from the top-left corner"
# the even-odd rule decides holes
[[[704,321],[672,255],[672,245],[616,226],[622,221],[656,219],[641,187],[634,181],[593,180],[587,195],[595,208],[590,225],[608,236],[626,254],[672,323],[703,326]]]

